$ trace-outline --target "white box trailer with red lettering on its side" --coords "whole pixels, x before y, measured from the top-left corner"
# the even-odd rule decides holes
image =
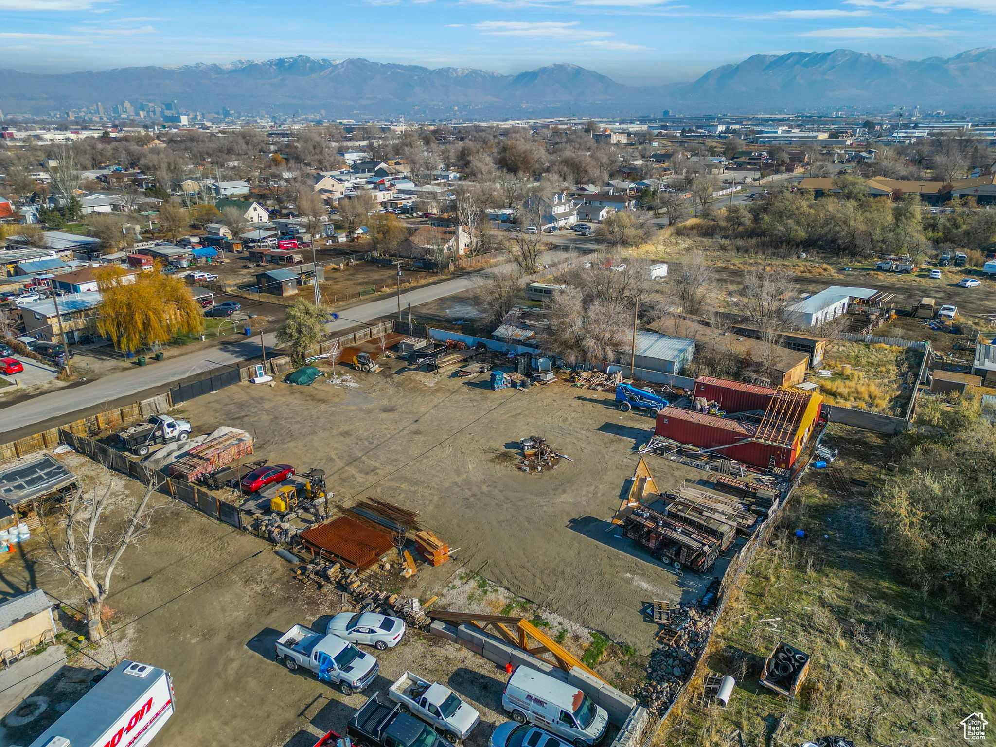
[[[173,705],[169,672],[122,661],[29,747],[143,747]]]

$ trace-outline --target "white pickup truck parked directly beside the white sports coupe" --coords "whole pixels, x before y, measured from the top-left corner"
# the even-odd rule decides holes
[[[373,682],[379,665],[373,656],[338,635],[326,635],[294,625],[276,642],[276,660],[291,671],[304,667],[319,679],[339,687],[344,695],[360,692]]]

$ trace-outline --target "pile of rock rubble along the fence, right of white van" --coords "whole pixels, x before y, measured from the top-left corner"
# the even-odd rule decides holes
[[[636,700],[652,714],[660,716],[674,702],[678,690],[688,679],[695,659],[705,646],[713,618],[698,607],[682,603],[675,619],[687,622],[674,639],[650,654],[646,666],[646,681],[636,690]]]

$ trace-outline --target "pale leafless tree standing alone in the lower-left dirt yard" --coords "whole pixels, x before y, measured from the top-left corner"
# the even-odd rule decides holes
[[[49,533],[48,523],[43,522],[53,563],[86,594],[87,634],[92,641],[105,635],[102,613],[111,593],[115,569],[124,551],[137,544],[148,529],[152,513],[148,502],[156,487],[156,482],[150,482],[141,498],[131,502],[127,518],[116,521],[111,515],[116,501],[115,480],[109,474],[103,489],[95,486],[90,491],[73,492],[66,507],[61,541],[56,541]]]

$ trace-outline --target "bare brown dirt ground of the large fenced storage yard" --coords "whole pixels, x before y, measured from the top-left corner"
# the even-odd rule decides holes
[[[386,364],[352,386],[228,387],[192,400],[184,416],[199,432],[249,430],[256,458],[324,468],[337,502],[372,496],[421,511],[465,567],[639,651],[652,632],[641,602],[702,593],[708,579],[667,570],[607,531],[649,417],[561,383],[492,391],[486,374],[440,378]],[[517,471],[517,442],[534,433],[574,463]],[[650,469],[662,488],[701,477],[657,457]]]

